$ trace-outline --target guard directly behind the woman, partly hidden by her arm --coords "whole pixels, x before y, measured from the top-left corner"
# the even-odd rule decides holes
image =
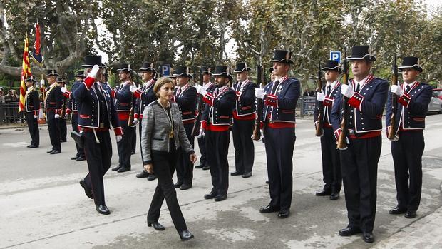
[[[190,86],[189,82],[193,76],[190,74],[188,66],[178,66],[173,76],[177,77],[178,88],[175,88],[172,100],[177,103],[180,108],[187,139],[189,139],[192,148],[194,148],[195,137],[192,135],[192,129],[196,117],[197,90],[195,87]],[[192,188],[193,163],[183,148],[178,150],[176,171],[177,183],[175,183],[175,188],[180,188],[180,190]]]

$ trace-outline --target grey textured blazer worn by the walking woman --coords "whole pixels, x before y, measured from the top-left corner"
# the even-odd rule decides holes
[[[170,113],[174,122],[173,138],[175,148],[183,147],[184,151],[192,154],[183,121],[181,120],[180,109],[176,103],[170,102]],[[141,120],[141,151],[143,153],[143,164],[152,163],[152,151],[169,152],[169,133],[172,130],[170,121],[163,107],[158,101],[153,101],[143,111]]]

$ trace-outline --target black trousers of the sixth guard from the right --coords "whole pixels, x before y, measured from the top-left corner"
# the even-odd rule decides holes
[[[217,195],[227,195],[229,188],[229,131],[205,131],[205,147],[207,148],[207,163],[210,165],[212,176],[212,192]]]

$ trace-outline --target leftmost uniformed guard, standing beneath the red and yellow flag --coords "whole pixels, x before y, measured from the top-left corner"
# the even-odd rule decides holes
[[[36,80],[34,76],[26,78],[26,94],[24,96],[24,106],[26,110],[26,123],[28,123],[31,144],[28,148],[38,148],[40,145],[40,132],[38,131],[38,116],[40,114],[40,98],[35,88]]]

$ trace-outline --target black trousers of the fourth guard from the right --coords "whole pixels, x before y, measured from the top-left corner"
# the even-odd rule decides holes
[[[270,206],[289,210],[293,191],[294,128],[264,128]]]

